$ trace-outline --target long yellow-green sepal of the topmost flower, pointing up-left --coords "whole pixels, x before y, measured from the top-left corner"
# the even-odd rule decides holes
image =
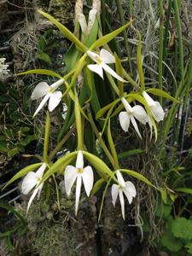
[[[58,27],[58,29],[61,31],[61,33],[67,38],[69,39],[71,42],[73,42],[74,44],[76,44],[76,46],[83,52],[87,51],[87,48],[84,46],[84,44],[82,44],[78,38],[76,38],[72,32],[70,32],[66,26],[62,25],[61,22],[59,22],[58,20],[55,20],[54,17],[52,17],[51,15],[48,15],[46,13],[44,13],[41,10],[38,10],[38,13],[41,15],[44,15],[44,17],[46,17],[48,20],[50,20],[52,23],[55,24],[55,26]]]

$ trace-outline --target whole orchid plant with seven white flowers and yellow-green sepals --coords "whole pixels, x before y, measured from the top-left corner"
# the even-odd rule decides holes
[[[118,154],[116,152],[115,144],[113,143],[110,119],[115,119],[116,115],[119,114],[119,126],[121,126],[123,131],[129,132],[131,123],[137,132],[138,139],[143,138],[143,125],[148,124],[150,127],[153,126],[156,139],[156,122],[162,121],[165,117],[165,113],[160,106],[160,102],[154,101],[148,93],[154,94],[155,96],[164,96],[172,101],[176,100],[163,90],[145,88],[140,40],[138,41],[137,48],[137,69],[141,85],[130,78],[122,67],[118,55],[113,54],[113,51],[109,49],[108,42],[130,26],[133,20],[125,24],[125,26],[121,26],[115,31],[102,36],[99,11],[96,13],[94,10],[94,15],[90,15],[91,17],[94,17],[94,22],[90,23],[92,26],[84,26],[86,23],[84,21],[85,18],[83,20],[78,18],[76,20],[76,22],[80,23],[80,26],[77,26],[76,24],[75,35],[81,35],[79,36],[80,38],[77,38],[66,26],[63,26],[51,15],[40,10],[38,12],[53,22],[61,33],[73,44],[73,47],[69,49],[66,55],[68,73],[62,76],[54,71],[36,69],[20,73],[19,75],[37,73],[52,76],[56,79],[55,83],[51,85],[47,84],[46,81],[42,81],[32,91],[32,100],[38,100],[43,97],[43,100],[38,105],[33,117],[44,108],[46,102],[49,102],[49,112],[58,108],[61,102],[64,102],[69,108],[67,108],[67,117],[64,120],[64,125],[61,127],[61,131],[58,135],[58,144],[55,148],[52,151],[49,148],[50,119],[48,112],[44,132],[44,154],[42,163],[26,166],[26,168],[18,172],[9,183],[26,175],[22,182],[22,193],[29,194],[33,189],[26,210],[28,212],[34,197],[37,194],[39,197],[42,189],[44,189],[44,183],[46,183],[49,178],[54,178],[55,180],[55,175],[64,174],[67,196],[71,195],[73,184],[76,181],[75,214],[78,213],[79,209],[82,181],[87,196],[96,194],[96,192],[101,189],[101,184],[106,184],[107,187],[111,184],[113,205],[115,205],[119,195],[122,217],[125,219],[125,201],[123,195],[125,195],[131,204],[133,198],[136,198],[137,196],[137,190],[134,183],[131,181],[125,182],[122,177]],[[78,17],[82,17],[82,15],[78,15]],[[77,32],[77,27],[79,27],[79,30],[84,28],[82,33]],[[87,29],[87,27],[89,27],[89,29]],[[88,31],[90,32],[88,33]],[[92,61],[94,61],[95,64],[93,64]],[[104,76],[104,72],[106,73],[106,76]],[[82,81],[82,78],[83,82],[79,85],[79,80]],[[113,102],[110,102],[103,108],[98,100],[99,96],[97,96],[96,89],[100,84],[96,84],[95,79],[100,79],[101,84],[104,80],[103,86],[108,86],[108,90],[110,90],[109,93],[112,92],[113,94]],[[133,85],[133,90],[131,92],[124,90],[125,83]],[[58,90],[61,84],[63,86]],[[100,90],[104,91],[102,86],[100,87]],[[120,105],[117,107],[119,102]],[[125,108],[125,110],[121,112],[122,108]],[[107,113],[107,116],[104,118],[105,113]],[[103,118],[104,122],[100,122]],[[97,119],[100,119],[99,122],[97,122]],[[64,154],[64,144],[70,136],[73,136],[74,127],[77,144],[72,152]],[[91,138],[87,139],[88,132],[86,132],[86,129],[90,129],[92,141]],[[106,154],[109,164],[106,164],[99,154],[96,153],[96,140],[103,149],[103,154]],[[91,148],[94,148],[94,150],[91,150]],[[53,162],[55,154],[59,151],[63,151],[63,155]],[[73,166],[75,158],[77,159],[76,165]],[[84,167],[84,158],[88,160],[90,166]],[[37,168],[37,165],[38,171],[33,172]],[[98,174],[96,176],[97,180],[95,184],[94,172],[97,172]],[[128,179],[132,176],[142,180],[149,186],[153,186],[153,184],[139,172],[134,172],[129,169],[125,169],[124,172],[129,176]],[[9,185],[9,183],[7,185]],[[104,195],[105,193],[103,193],[103,196]]]

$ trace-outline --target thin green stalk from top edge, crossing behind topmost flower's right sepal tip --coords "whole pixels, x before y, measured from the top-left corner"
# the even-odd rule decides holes
[[[116,2],[116,5],[117,5],[121,26],[124,26],[125,25],[125,19],[124,19],[124,14],[123,14],[122,3],[121,3],[120,0],[115,0],[115,2]],[[125,30],[123,31],[123,34],[124,34],[126,54],[128,56],[128,63],[129,63],[129,67],[130,67],[130,70],[131,70],[131,73],[132,73],[130,47],[129,47],[129,42],[128,42],[128,39],[127,39],[127,33],[126,33]]]

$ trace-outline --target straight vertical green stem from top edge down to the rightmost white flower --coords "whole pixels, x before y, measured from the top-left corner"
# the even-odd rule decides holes
[[[159,39],[159,88],[163,88],[163,0],[159,0],[159,16],[160,16],[160,39]],[[163,99],[160,97],[160,104],[162,105]]]

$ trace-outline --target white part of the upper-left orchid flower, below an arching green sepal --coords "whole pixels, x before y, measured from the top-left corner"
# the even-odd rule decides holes
[[[61,84],[63,84],[64,79],[56,81],[54,84],[47,84],[46,82],[39,83],[35,89],[32,91],[32,100],[37,100],[44,96],[44,99],[39,104],[37,110],[33,114],[33,117],[44,107],[44,104],[49,100],[49,111],[53,111],[61,102],[62,93],[56,90]],[[56,91],[55,91],[56,90]]]

